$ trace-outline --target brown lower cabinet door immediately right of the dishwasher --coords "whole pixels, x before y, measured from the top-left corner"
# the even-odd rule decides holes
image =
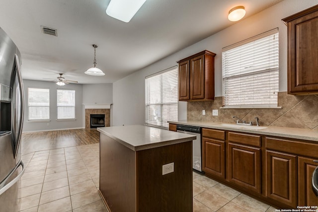
[[[202,138],[203,171],[225,178],[225,142]]]

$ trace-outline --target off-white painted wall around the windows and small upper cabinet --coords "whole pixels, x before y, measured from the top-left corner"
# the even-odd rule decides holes
[[[149,67],[114,82],[113,125],[144,124],[145,76],[175,66],[176,61],[203,50],[217,54],[215,58],[215,95],[222,96],[222,48],[276,27],[279,30],[279,91],[287,91],[287,27],[281,19],[316,4],[318,4],[318,0],[281,1]],[[179,120],[186,119],[186,103],[180,102],[179,105]]]

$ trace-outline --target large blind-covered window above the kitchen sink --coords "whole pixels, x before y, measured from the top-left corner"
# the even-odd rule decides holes
[[[225,108],[271,108],[278,104],[278,29],[222,50]]]

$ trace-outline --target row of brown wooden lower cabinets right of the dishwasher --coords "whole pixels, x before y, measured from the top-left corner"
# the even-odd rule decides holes
[[[280,209],[318,206],[312,191],[317,152],[316,141],[202,128],[206,175]]]

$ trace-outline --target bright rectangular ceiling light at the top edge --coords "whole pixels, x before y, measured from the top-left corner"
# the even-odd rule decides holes
[[[128,23],[146,0],[110,0],[107,15]]]

